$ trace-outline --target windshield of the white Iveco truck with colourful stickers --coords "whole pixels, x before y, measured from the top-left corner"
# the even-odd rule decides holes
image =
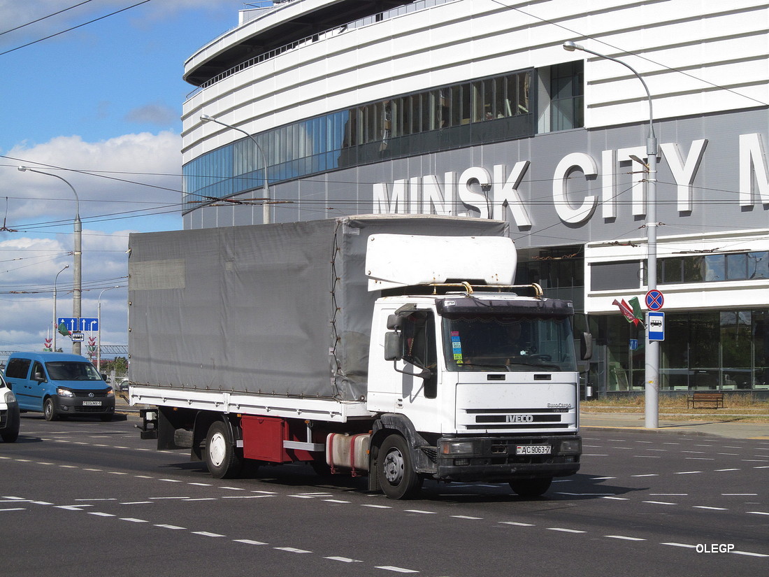
[[[449,371],[576,371],[567,316],[444,315]]]

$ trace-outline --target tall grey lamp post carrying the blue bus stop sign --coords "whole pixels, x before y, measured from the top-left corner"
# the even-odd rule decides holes
[[[646,138],[646,268],[647,268],[647,287],[648,290],[657,288],[657,137],[654,135],[654,115],[651,111],[651,92],[644,82],[644,78],[629,65],[618,58],[612,58],[600,52],[593,52],[584,48],[584,46],[574,42],[564,42],[564,50],[574,52],[581,50],[588,52],[598,58],[604,58],[617,62],[628,68],[641,84],[644,85],[646,96],[649,101],[649,132]],[[645,403],[644,426],[647,429],[657,429],[659,426],[659,379],[660,379],[660,343],[659,341],[649,340],[649,322],[647,316],[646,322],[646,368],[644,370],[645,378]]]

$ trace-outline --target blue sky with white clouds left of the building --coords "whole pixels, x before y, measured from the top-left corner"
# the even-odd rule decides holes
[[[54,286],[56,315],[72,316],[72,188],[82,317],[101,303],[102,345],[128,344],[128,235],[182,228],[185,60],[245,4],[0,0],[0,361],[52,337]]]

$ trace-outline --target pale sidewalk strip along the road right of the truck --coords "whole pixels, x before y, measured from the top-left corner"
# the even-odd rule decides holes
[[[748,423],[735,421],[735,412],[708,415],[707,420],[671,420],[660,415],[658,429],[647,429],[644,413],[630,412],[581,412],[580,428],[622,429],[635,431],[663,431],[686,435],[716,435],[729,439],[767,439],[769,423]]]

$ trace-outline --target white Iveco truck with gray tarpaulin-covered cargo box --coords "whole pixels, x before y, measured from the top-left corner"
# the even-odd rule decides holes
[[[579,469],[589,335],[571,302],[512,285],[504,222],[361,215],[129,246],[129,396],[158,449],[217,478],[308,462],[391,499],[424,479],[541,495]]]

